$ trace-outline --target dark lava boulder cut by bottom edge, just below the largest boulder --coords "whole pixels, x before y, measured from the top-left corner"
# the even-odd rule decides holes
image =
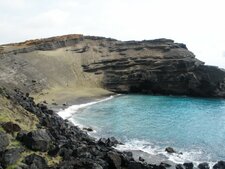
[[[48,167],[46,160],[36,154],[25,157],[23,162],[29,166],[29,169],[45,169]]]

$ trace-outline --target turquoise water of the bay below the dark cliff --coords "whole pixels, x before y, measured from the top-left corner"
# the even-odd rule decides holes
[[[97,137],[115,136],[131,147],[160,153],[171,146],[189,160],[225,159],[223,99],[121,95],[83,108],[72,118],[94,128]]]

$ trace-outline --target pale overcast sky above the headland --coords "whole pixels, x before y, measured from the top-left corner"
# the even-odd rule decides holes
[[[225,0],[0,0],[0,44],[77,33],[173,39],[225,68]]]

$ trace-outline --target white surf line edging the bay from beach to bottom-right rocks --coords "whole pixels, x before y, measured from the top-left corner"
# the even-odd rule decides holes
[[[96,140],[100,139],[100,137],[96,137],[93,136],[92,133],[96,133],[98,131],[87,131],[84,128],[86,127],[90,127],[91,129],[93,129],[93,126],[84,126],[82,124],[79,124],[77,122],[75,122],[75,120],[73,120],[71,117],[76,114],[77,112],[79,112],[79,109],[85,108],[87,106],[92,106],[94,104],[98,104],[104,101],[108,101],[111,100],[117,96],[120,96],[121,94],[115,94],[115,95],[110,95],[109,97],[98,97],[95,99],[90,99],[89,102],[80,102],[80,104],[76,104],[75,105],[71,105],[68,106],[67,108],[60,110],[57,112],[57,114],[62,117],[64,120],[69,120],[73,125],[78,126],[81,130],[87,132],[88,135],[94,137]],[[68,113],[69,112],[69,113]],[[65,113],[65,114],[64,114]],[[117,138],[116,138],[117,139]],[[124,145],[127,145],[129,143],[125,143]],[[148,164],[155,164],[155,165],[160,165],[161,163],[166,163],[166,164],[170,164],[171,167],[169,168],[176,168],[177,164],[180,163],[193,163],[194,167],[198,167],[199,164],[204,163],[205,161],[193,161],[193,160],[188,160],[185,159],[185,157],[179,157],[179,156],[183,156],[184,154],[191,154],[192,152],[182,152],[182,154],[179,153],[173,153],[173,154],[169,154],[167,153],[165,150],[161,150],[160,152],[155,152],[154,153],[149,153],[148,151],[142,149],[142,148],[135,148],[135,149],[129,149],[129,148],[124,148],[124,145],[119,145],[118,147],[114,147],[115,149],[121,151],[121,152],[132,152],[133,153],[133,157],[134,159],[138,162],[139,161],[139,157],[143,158],[145,160],[145,162],[147,162]],[[129,147],[129,145],[128,145]],[[154,150],[153,150],[154,151]],[[209,164],[210,168],[213,167],[213,165],[216,162],[210,162],[207,161],[207,163]]]

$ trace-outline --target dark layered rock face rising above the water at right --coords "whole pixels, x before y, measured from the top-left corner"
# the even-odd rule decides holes
[[[225,96],[225,72],[205,66],[183,44],[159,39],[120,42],[110,47],[116,59],[84,65],[84,71],[104,73],[104,86],[114,92]],[[120,52],[123,52],[122,55]]]

